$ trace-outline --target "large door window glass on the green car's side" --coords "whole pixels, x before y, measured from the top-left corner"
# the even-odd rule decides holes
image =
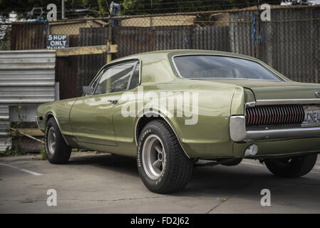
[[[135,62],[123,63],[108,68],[100,78],[95,94],[125,91]]]

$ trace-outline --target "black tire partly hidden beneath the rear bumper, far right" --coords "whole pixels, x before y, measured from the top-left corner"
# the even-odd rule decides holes
[[[286,157],[280,159],[267,159],[264,164],[268,170],[277,177],[301,177],[309,173],[318,155],[304,155],[299,157]]]

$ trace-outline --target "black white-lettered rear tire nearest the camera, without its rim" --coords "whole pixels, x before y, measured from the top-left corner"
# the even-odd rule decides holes
[[[145,140],[156,135],[163,145],[162,171],[160,177],[151,179],[144,167],[143,147]],[[165,120],[153,120],[143,128],[138,139],[137,165],[145,187],[156,193],[176,192],[185,188],[193,171],[193,160],[185,155],[175,133]],[[146,153],[146,152],[145,152]],[[147,162],[145,162],[147,163]]]

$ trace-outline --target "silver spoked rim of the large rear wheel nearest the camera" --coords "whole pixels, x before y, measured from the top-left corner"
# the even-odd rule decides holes
[[[149,135],[143,144],[143,169],[152,180],[157,180],[165,170],[165,148],[158,135]]]

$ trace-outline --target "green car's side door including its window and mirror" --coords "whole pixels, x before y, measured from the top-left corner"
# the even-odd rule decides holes
[[[118,102],[133,73],[136,61],[106,66],[97,78],[93,94],[76,100],[70,120],[78,142],[116,146],[113,106]],[[95,85],[96,84],[96,85]]]

